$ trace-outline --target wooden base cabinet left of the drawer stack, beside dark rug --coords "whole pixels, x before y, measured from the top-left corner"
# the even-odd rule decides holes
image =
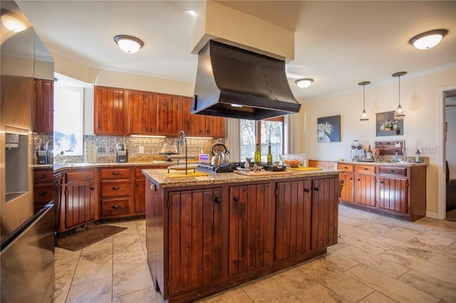
[[[98,219],[95,171],[81,169],[64,173],[60,231]]]

